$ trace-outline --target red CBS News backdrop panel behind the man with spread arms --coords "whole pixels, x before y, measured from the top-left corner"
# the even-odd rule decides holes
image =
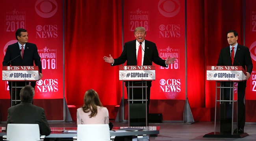
[[[147,2],[124,0],[124,42],[135,40],[135,27],[145,27],[145,40],[156,43],[162,59],[167,59],[168,56],[177,58],[175,63],[167,68],[153,63],[156,66],[156,80],[152,81],[150,99],[184,100],[185,0],[155,0],[143,5]]]

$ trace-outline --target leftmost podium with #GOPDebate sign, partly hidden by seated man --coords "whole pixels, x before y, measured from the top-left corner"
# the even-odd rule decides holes
[[[38,66],[3,66],[2,81],[11,83],[11,106],[20,103],[20,89],[29,85],[29,81],[37,81],[39,78]]]

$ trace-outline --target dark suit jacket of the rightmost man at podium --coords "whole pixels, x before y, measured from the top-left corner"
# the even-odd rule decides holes
[[[225,47],[221,49],[219,54],[219,60],[217,65],[219,66],[232,66],[231,57],[230,57],[230,47]],[[246,72],[252,72],[252,58],[250,57],[250,51],[248,47],[243,45],[237,45],[234,66],[242,66]],[[246,87],[246,81],[238,83],[239,87]]]

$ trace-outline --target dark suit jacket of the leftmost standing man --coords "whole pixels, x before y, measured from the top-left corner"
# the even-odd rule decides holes
[[[26,43],[22,59],[19,44],[17,42],[8,45],[6,55],[4,56],[3,66],[33,66],[34,62],[35,65],[38,66],[39,72],[42,73],[41,58],[37,52],[37,46],[33,43]]]

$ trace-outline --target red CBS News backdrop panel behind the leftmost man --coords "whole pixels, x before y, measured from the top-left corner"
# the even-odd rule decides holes
[[[63,120],[63,1],[4,0],[0,9],[0,37],[3,39],[0,60],[3,60],[7,46],[17,43],[15,31],[26,29],[28,42],[37,45],[44,75],[37,81],[34,104],[45,108],[48,120]],[[7,81],[0,81],[0,91],[1,120],[6,121],[10,105]]]

